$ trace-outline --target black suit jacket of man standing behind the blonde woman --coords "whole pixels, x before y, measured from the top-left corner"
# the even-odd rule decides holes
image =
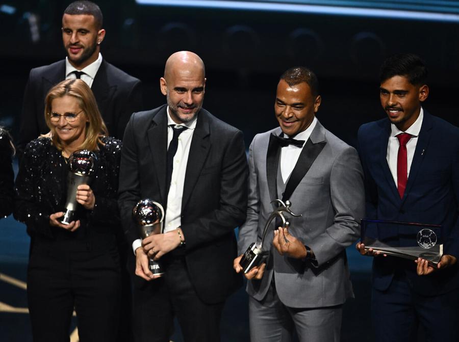
[[[44,120],[44,100],[49,89],[65,80],[65,60],[34,68],[25,86],[17,148],[49,131]],[[92,92],[109,135],[121,139],[132,113],[142,110],[141,82],[105,60],[92,83]]]

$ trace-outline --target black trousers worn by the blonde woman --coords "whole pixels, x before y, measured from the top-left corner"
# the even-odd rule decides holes
[[[120,265],[116,247],[64,252],[34,246],[27,295],[35,342],[69,340],[73,309],[80,342],[113,341],[119,324]]]

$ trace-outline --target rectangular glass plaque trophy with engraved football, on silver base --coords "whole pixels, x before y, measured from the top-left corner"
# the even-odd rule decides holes
[[[443,255],[438,244],[441,226],[412,222],[362,219],[361,241],[365,250],[416,260],[418,257],[435,266]],[[368,227],[369,225],[370,228]]]

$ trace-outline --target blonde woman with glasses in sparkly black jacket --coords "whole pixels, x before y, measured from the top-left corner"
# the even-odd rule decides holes
[[[120,265],[116,203],[121,143],[107,129],[90,88],[66,80],[45,99],[49,133],[31,141],[16,178],[14,217],[31,236],[28,300],[34,341],[66,341],[73,310],[81,342],[111,341],[118,325]],[[67,159],[97,155],[90,185],[78,187],[77,221],[59,221],[66,200]]]

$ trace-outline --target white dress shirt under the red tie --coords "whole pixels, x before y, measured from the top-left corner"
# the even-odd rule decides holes
[[[416,121],[405,130],[404,133],[412,135],[412,138],[406,143],[406,157],[407,157],[407,174],[410,174],[411,163],[413,162],[413,156],[416,149],[416,144],[418,143],[419,131],[421,130],[422,118],[424,117],[424,111],[421,107],[421,112]],[[387,144],[387,163],[389,164],[389,169],[391,169],[392,177],[394,178],[395,185],[397,185],[397,155],[398,147],[400,143],[398,142],[397,135],[403,133],[396,125],[391,123],[391,135],[389,136],[389,143]]]

